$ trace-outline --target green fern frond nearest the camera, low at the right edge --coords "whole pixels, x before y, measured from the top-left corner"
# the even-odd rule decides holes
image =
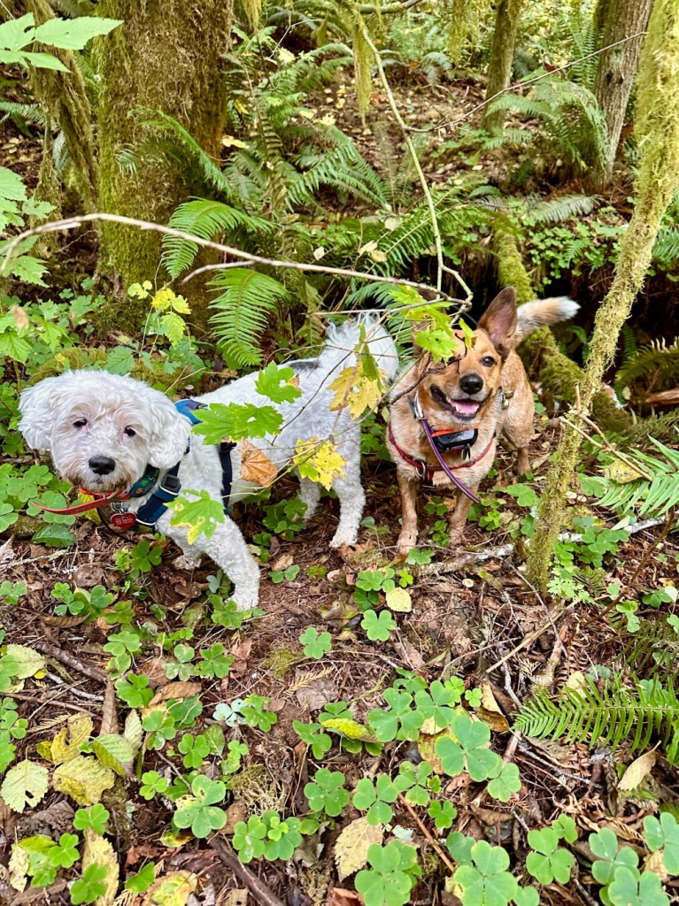
[[[664,689],[657,680],[642,679],[630,688],[614,675],[601,689],[587,677],[577,689],[563,687],[557,701],[538,691],[520,708],[514,728],[529,737],[563,737],[567,743],[588,739],[592,746],[612,748],[631,738],[635,751],[646,747],[654,733],[666,741],[677,718],[679,701],[671,684]]]

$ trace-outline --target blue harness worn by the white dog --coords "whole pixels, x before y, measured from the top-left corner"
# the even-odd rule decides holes
[[[196,400],[179,400],[175,403],[175,407],[179,412],[179,415],[183,415],[185,418],[189,419],[191,425],[196,425],[199,423],[200,419],[197,419],[195,416],[195,410],[197,409],[207,409],[208,407],[201,402],[196,402]],[[231,483],[233,480],[233,466],[231,464],[231,450],[233,450],[237,445],[231,443],[230,441],[223,440],[218,447],[219,454],[219,463],[221,465],[221,496],[222,502],[224,504],[224,512],[230,514],[231,510],[228,506],[228,500],[231,496]],[[190,449],[190,439],[187,444],[187,448],[184,451],[184,456],[189,452]],[[149,493],[150,488],[153,488],[153,493],[146,501],[143,506],[137,510],[136,513],[131,513],[129,510],[122,511],[119,513],[121,517],[121,527],[124,528],[134,528],[138,532],[146,532],[154,528],[160,516],[163,513],[167,512],[168,504],[179,496],[179,491],[181,490],[181,482],[179,481],[179,466],[181,464],[181,459],[178,463],[175,463],[174,466],[168,469],[165,475],[158,480],[159,469],[153,466],[147,467],[144,474],[141,476],[140,480],[136,482],[128,491],[128,495],[131,497],[140,497]],[[127,516],[128,518],[123,520],[122,517]],[[135,516],[134,523],[131,523],[131,516]],[[113,516],[113,524],[115,525],[115,516]],[[127,523],[130,523],[129,525]]]

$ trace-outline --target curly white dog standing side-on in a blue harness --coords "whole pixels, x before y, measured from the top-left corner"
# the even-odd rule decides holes
[[[368,348],[389,378],[398,367],[398,356],[392,338],[373,321],[364,320]],[[360,425],[346,409],[331,412],[334,392],[329,385],[345,368],[355,364],[354,347],[359,342],[360,323],[344,323],[330,328],[325,346],[317,359],[291,361],[299,377],[302,395],[276,409],[283,416],[283,427],[276,436],[253,441],[278,469],[296,454],[298,440],[333,437],[338,451],[346,460],[344,477],[336,477],[333,488],[340,501],[340,519],[333,547],[355,544],[363,516],[365,495],[361,486]],[[203,404],[255,402],[272,405],[257,393],[257,373],[206,393],[197,398]],[[63,479],[86,491],[108,494],[135,486],[148,475],[149,467],[160,470],[159,484],[168,470],[179,464],[181,495],[196,499],[190,491],[207,490],[216,500],[222,498],[222,467],[218,447],[189,434],[189,418],[161,393],[141,381],[110,374],[107,371],[66,371],[47,378],[21,395],[20,430],[34,448],[48,450],[54,467]],[[238,479],[238,448],[231,453],[234,481],[229,504],[252,493],[257,486]],[[151,488],[152,489],[152,488]],[[320,486],[302,478],[300,497],[306,503],[306,517],[312,516],[320,498]],[[133,513],[150,499],[150,494],[117,504]],[[188,530],[170,525],[171,511],[156,524],[183,550],[181,566],[191,568],[208,554],[228,575],[234,585],[232,599],[239,609],[257,604],[259,570],[247,549],[238,525],[228,516],[211,538],[199,535],[189,544]],[[131,516],[127,518],[134,521]]]

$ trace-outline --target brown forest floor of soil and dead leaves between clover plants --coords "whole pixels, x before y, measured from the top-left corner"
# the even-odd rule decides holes
[[[481,96],[482,86],[470,82],[457,84],[451,92],[443,92],[432,100],[430,86],[413,83],[412,88],[399,90],[398,101],[412,124],[428,127],[454,120]],[[353,133],[366,157],[377,163],[373,134],[364,133],[352,99],[350,88],[337,89],[319,98],[318,108],[334,110],[338,125]],[[375,100],[386,110],[386,98],[378,96]],[[471,123],[478,124],[479,117],[476,114]],[[380,118],[383,119],[383,114],[376,117]],[[0,162],[20,172],[28,186],[34,187],[35,160],[41,142],[21,136],[8,121],[0,128]],[[393,140],[398,148],[395,130]],[[505,152],[466,161],[460,155],[453,157],[454,160],[430,157],[428,178],[451,178],[455,168],[485,168],[487,178],[500,181],[500,170],[506,170],[510,164]],[[625,194],[624,187],[620,191],[621,195]],[[91,235],[87,233],[64,246],[55,275],[92,272]],[[533,484],[539,488],[548,457],[556,447],[559,428],[544,417],[538,419],[536,427],[531,459]],[[501,488],[515,480],[512,466],[513,456],[501,450],[496,462],[499,474],[483,488],[484,493],[501,495]],[[454,673],[468,687],[479,686],[484,696],[485,719],[497,731],[493,746],[520,769],[521,789],[506,805],[483,798],[482,787],[471,782],[467,775],[444,786],[444,795],[461,815],[457,829],[481,839],[489,836],[490,828],[491,841],[502,843],[521,860],[528,852],[527,828],[544,824],[560,813],[570,814],[583,833],[597,830],[606,817],[606,824],[615,829],[620,839],[632,845],[641,840],[643,811],[635,799],[617,790],[616,769],[605,749],[592,755],[585,744],[550,743],[516,737],[509,732],[512,714],[529,697],[531,683],[538,680],[547,689],[554,689],[577,671],[587,673],[596,665],[610,666],[611,659],[619,653],[615,633],[605,620],[597,618],[596,612],[593,616],[592,609],[567,609],[561,616],[558,612],[547,612],[546,604],[536,598],[522,579],[520,549],[511,554],[504,550],[484,559],[475,555],[507,545],[509,528],[518,525],[525,511],[521,511],[514,498],[505,495],[499,529],[486,532],[470,523],[465,545],[471,555],[464,564],[457,553],[436,547],[431,537],[427,537],[438,517],[422,512],[428,499],[422,491],[423,544],[435,551],[435,559],[420,575],[416,574],[416,567],[412,568],[415,573],[410,588],[412,612],[399,616],[398,630],[391,639],[370,642],[359,627],[360,614],[353,603],[354,587],[361,570],[393,562],[400,515],[393,466],[377,458],[364,458],[364,487],[367,493],[364,516],[371,517],[373,525],[362,530],[355,548],[342,552],[330,550],[328,542],[337,519],[337,501],[330,499],[323,501],[310,525],[293,541],[274,536],[270,562],[262,566],[260,605],[264,616],[248,621],[238,631],[225,631],[199,619],[209,612],[209,576],[216,568],[205,563],[190,573],[177,570],[172,560],[179,551],[170,543],[161,543],[164,549],[160,565],[144,573],[132,584],[129,593],[119,593],[119,600],[131,600],[138,622],[155,621],[156,614],[150,608],[160,605],[167,611],[165,631],[170,633],[190,625],[194,630],[190,644],[196,651],[220,641],[234,656],[225,679],[192,678],[192,682],[199,683],[203,708],[196,728],[207,726],[221,702],[244,699],[251,693],[271,700],[270,708],[276,713],[277,722],[270,732],[249,727],[227,729],[227,740],[242,738],[249,751],[244,776],[228,801],[226,832],[253,810],[274,808],[285,809],[286,814],[304,814],[306,801],[302,791],[310,775],[313,776],[314,762],[310,750],[293,729],[293,721],[314,720],[326,703],[342,700],[353,710],[354,718],[364,722],[371,708],[382,705],[382,691],[396,678],[396,671],[411,670],[428,680]],[[295,493],[292,481],[276,486],[276,497],[289,498]],[[576,503],[581,506],[585,498],[579,498]],[[583,511],[579,512],[582,515]],[[248,539],[261,532],[261,510],[247,506],[239,516],[239,525]],[[616,556],[611,556],[605,564],[606,581],[615,582],[618,577],[627,578],[635,573],[657,532],[658,529],[641,532],[620,545]],[[30,718],[27,735],[15,740],[17,759],[28,754],[34,756],[36,745],[52,739],[69,714],[89,714],[98,726],[104,705],[111,706],[107,696],[110,680],[105,672],[109,656],[102,646],[118,627],[104,618],[85,622],[77,616],[55,616],[51,590],[58,582],[85,590],[98,585],[121,588],[126,576],[116,568],[116,553],[123,548],[131,549],[138,538],[131,540],[119,535],[105,519],[97,524],[87,518],[77,523],[76,536],[76,545],[57,551],[14,537],[6,538],[0,545],[3,578],[22,581],[27,586],[27,595],[19,604],[0,609],[5,642],[43,651],[48,664],[42,679],[26,679],[23,689],[12,692],[21,716]],[[661,579],[673,580],[670,573],[679,546],[667,541],[658,548],[660,551],[666,555],[664,563],[653,558],[637,576],[635,585],[639,593],[657,587]],[[295,579],[282,583],[270,581],[268,573],[285,570],[293,564],[300,567]],[[324,567],[325,575],[321,576],[317,569],[309,575],[309,567]],[[306,658],[302,651],[299,636],[307,626],[328,630],[333,636],[332,651],[320,661]],[[522,641],[527,643],[520,648]],[[148,676],[154,689],[168,682],[162,670],[160,649],[149,656],[136,656],[133,670]],[[121,713],[125,710],[121,703],[119,708]],[[121,719],[121,714],[118,718]],[[353,789],[360,777],[374,776],[378,768],[387,770],[399,758],[410,755],[416,758],[417,753],[409,751],[413,746],[390,743],[377,757],[349,755],[335,746],[324,764],[342,770],[347,788]],[[144,770],[154,769],[170,778],[177,776],[181,771],[181,757],[172,752],[171,747],[163,752],[147,752]],[[621,760],[624,754],[623,747],[618,750],[616,760]],[[669,798],[674,800],[674,795]],[[235,906],[238,899],[229,899],[229,892],[252,885],[251,877],[249,881],[244,880],[243,871],[258,875],[267,890],[289,906],[324,902],[351,906],[358,902],[356,894],[344,891],[352,886],[351,882],[338,881],[333,855],[338,834],[360,814],[355,809],[350,808],[342,819],[325,826],[320,836],[306,838],[296,861],[260,860],[248,869],[238,869],[241,873],[237,876],[205,843],[192,839],[177,846],[164,843],[161,837],[170,826],[172,805],[162,796],[151,801],[142,799],[133,777],[119,778],[116,786],[104,793],[102,801],[112,813],[114,848],[118,853],[125,853],[124,868],[134,872],[144,860],[152,859],[163,860],[166,871],[193,872],[199,876],[197,897],[206,906],[212,903]],[[424,876],[412,892],[412,902],[458,902],[452,894],[440,893],[441,879],[447,872],[422,833],[421,824],[399,803],[394,805],[394,813],[393,824],[401,825],[404,835],[412,834],[412,841],[427,852]],[[15,839],[39,834],[45,828],[57,831],[70,828],[72,817],[73,809],[67,798],[52,791],[39,808],[26,815],[11,813],[0,805],[5,843],[2,862],[7,863],[9,844]],[[432,826],[428,833],[437,832]],[[528,876],[523,880],[527,882]],[[587,872],[581,870],[575,887],[547,885],[542,888],[543,902],[591,902],[589,894],[583,892],[587,882]],[[334,888],[344,892],[333,894]],[[15,895],[12,903],[18,906],[34,899],[35,891],[29,888]],[[50,902],[69,902],[65,882],[61,889],[51,891]]]

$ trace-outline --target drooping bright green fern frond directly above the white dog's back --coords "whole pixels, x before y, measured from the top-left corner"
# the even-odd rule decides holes
[[[255,342],[267,328],[267,319],[290,296],[273,277],[235,267],[218,273],[209,286],[221,292],[210,303],[217,313],[210,318],[219,346],[238,366],[258,365],[262,353]]]

